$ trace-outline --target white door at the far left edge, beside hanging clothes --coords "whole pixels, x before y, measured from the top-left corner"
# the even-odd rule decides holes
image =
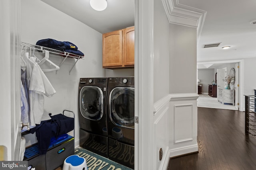
[[[0,84],[2,119],[0,145],[6,148],[4,158],[20,160],[21,107],[20,107],[20,0],[1,0],[0,13]]]

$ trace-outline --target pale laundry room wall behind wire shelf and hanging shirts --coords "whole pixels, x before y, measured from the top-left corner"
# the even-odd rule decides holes
[[[78,146],[78,84],[82,77],[105,77],[102,68],[102,34],[70,16],[52,8],[40,0],[21,1],[21,41],[35,44],[40,39],[52,38],[58,41],[70,41],[85,54],[69,75],[75,59],[67,59],[55,71],[45,72],[56,90],[52,98],[45,97],[44,108],[49,113],[62,113],[64,109],[74,111],[75,142]],[[50,60],[57,65],[64,57],[50,55]],[[32,140],[32,139],[31,139]],[[27,141],[34,143],[34,141]],[[28,144],[27,144],[28,145]]]

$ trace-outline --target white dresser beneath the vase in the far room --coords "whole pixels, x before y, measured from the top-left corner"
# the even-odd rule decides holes
[[[235,105],[235,91],[230,89],[222,89],[218,90],[218,101],[222,102],[222,104],[232,104]]]

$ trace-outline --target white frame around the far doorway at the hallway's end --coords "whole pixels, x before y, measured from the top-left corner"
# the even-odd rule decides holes
[[[202,61],[202,62],[197,62],[197,64],[225,64],[225,63],[239,63],[239,111],[244,111],[245,106],[244,106],[244,60],[239,59],[239,60],[222,60],[222,61]],[[241,88],[242,87],[242,88]]]

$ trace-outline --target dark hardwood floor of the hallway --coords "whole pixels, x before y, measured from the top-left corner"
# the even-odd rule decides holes
[[[170,158],[168,170],[256,170],[256,139],[244,112],[198,107],[198,153]]]

